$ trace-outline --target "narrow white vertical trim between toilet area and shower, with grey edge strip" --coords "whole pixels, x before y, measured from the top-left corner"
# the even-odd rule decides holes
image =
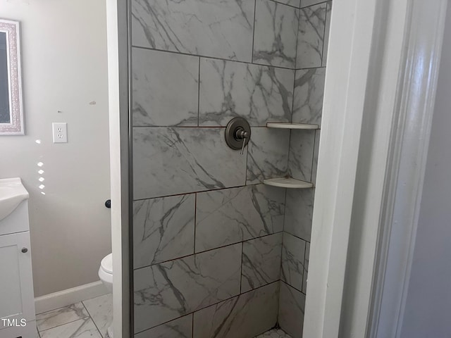
[[[114,338],[132,337],[130,238],[130,88],[128,21],[130,0],[106,1],[111,170],[111,244],[113,249]],[[116,273],[117,271],[117,273]]]

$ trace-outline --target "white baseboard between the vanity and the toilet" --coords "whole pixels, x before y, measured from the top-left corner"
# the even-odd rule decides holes
[[[46,294],[35,298],[36,313],[42,313],[54,310],[56,308],[62,308],[79,301],[85,301],[94,297],[108,294],[106,287],[102,284],[101,280],[80,287],[73,287],[72,289],[66,289],[53,294]]]

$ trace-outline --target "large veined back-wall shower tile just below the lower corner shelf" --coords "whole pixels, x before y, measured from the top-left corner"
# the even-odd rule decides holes
[[[197,194],[196,251],[283,230],[285,191],[263,184]]]

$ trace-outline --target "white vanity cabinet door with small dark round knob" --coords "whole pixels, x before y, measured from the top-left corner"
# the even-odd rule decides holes
[[[0,337],[5,327],[20,330],[34,320],[30,232],[5,234],[0,236]]]

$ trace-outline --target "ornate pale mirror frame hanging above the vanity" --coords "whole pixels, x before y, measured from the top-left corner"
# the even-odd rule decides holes
[[[22,73],[20,69],[20,28],[18,21],[0,19],[6,33],[10,123],[0,123],[0,135],[23,135]]]

